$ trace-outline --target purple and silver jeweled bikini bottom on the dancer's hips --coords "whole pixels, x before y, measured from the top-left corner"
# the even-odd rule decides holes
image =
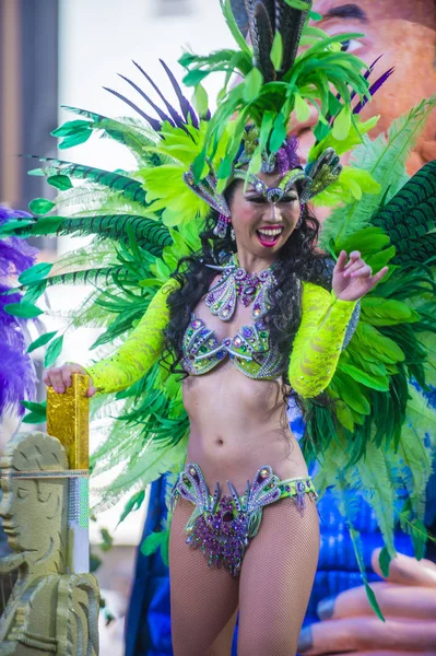
[[[263,506],[292,496],[303,514],[306,496],[316,497],[317,493],[309,477],[281,481],[269,465],[258,469],[251,485],[247,481],[241,496],[229,481],[227,484],[231,496],[220,496],[219,483],[212,496],[200,467],[188,462],[174,487],[172,507],[179,495],[195,504],[185,527],[187,544],[200,548],[210,567],[224,566],[237,576],[249,541],[259,530]]]

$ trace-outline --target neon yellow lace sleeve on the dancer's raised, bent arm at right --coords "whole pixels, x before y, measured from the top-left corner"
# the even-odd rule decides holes
[[[356,301],[341,301],[333,292],[303,283],[302,323],[288,370],[290,383],[301,396],[315,397],[329,385],[355,305]]]

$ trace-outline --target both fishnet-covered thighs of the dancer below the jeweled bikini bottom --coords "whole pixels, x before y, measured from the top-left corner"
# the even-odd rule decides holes
[[[318,562],[315,502],[307,497],[303,517],[292,499],[263,509],[239,579],[185,543],[191,513],[179,497],[169,540],[174,655],[229,656],[239,596],[238,656],[294,656]]]

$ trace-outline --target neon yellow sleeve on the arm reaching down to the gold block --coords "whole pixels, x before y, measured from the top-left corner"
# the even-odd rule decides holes
[[[157,361],[164,345],[164,329],[169,319],[166,301],[177,285],[175,280],[164,284],[126,342],[109,358],[85,368],[98,393],[126,389]]]

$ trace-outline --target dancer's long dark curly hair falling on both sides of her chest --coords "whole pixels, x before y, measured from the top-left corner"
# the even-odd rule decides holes
[[[225,192],[231,202],[235,183]],[[180,286],[169,294],[169,321],[165,329],[165,347],[162,362],[172,373],[180,373],[182,359],[182,339],[190,321],[191,313],[207,294],[216,271],[205,265],[221,265],[223,259],[236,251],[229,231],[224,238],[213,233],[217,213],[211,211],[200,233],[201,250],[180,259],[173,277]],[[320,224],[307,204],[302,207],[301,226],[292,233],[279,251],[275,260],[274,277],[276,285],[271,290],[271,308],[263,320],[268,325],[270,339],[279,345],[284,362],[291,354],[295,333],[301,323],[301,281],[311,281],[329,289],[329,267],[325,254],[316,250]],[[280,293],[276,292],[280,290]],[[169,358],[168,358],[169,355]],[[286,391],[288,385],[287,367],[283,371],[283,394],[286,399],[294,396]]]

